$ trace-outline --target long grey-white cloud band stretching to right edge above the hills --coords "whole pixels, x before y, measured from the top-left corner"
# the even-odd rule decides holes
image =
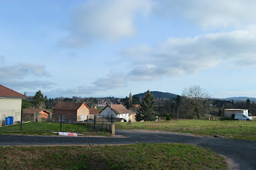
[[[255,65],[255,43],[256,32],[251,28],[187,39],[170,38],[157,47],[133,47],[122,54],[131,62],[132,69],[127,74],[130,80],[155,80],[194,74],[219,63]]]

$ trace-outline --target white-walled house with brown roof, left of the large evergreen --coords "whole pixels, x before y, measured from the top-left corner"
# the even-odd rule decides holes
[[[123,104],[110,104],[99,112],[99,116],[122,118],[129,121],[129,111]]]

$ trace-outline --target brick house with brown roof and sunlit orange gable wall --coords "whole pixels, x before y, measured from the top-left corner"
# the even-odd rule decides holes
[[[64,123],[81,122],[87,119],[89,107],[83,103],[72,101],[61,101],[53,107],[53,120]]]

